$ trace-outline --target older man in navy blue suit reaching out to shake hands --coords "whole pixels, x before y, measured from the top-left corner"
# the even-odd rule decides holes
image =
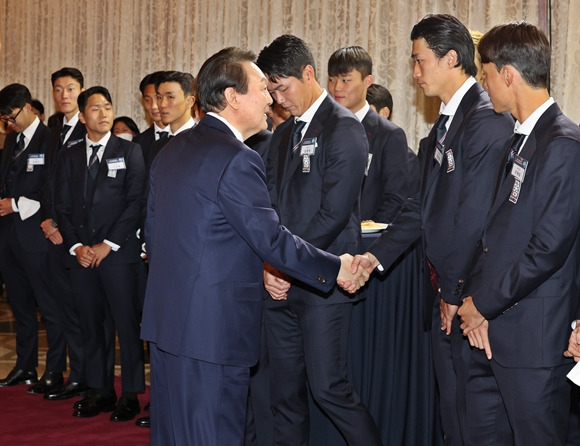
[[[242,142],[266,128],[271,103],[254,57],[227,48],[204,63],[197,85],[207,115],[151,168],[142,336],[151,342],[155,445],[242,444],[263,261],[321,290],[350,267],[350,256],[291,235],[270,207],[262,161]]]

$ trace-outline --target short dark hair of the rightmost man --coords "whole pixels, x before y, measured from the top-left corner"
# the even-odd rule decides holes
[[[527,22],[498,25],[479,41],[481,63],[493,63],[500,71],[513,66],[532,88],[548,88],[550,43],[546,34]]]

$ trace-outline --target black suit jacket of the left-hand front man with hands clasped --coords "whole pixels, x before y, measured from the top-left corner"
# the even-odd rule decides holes
[[[123,158],[125,169],[110,175],[107,160]],[[87,151],[85,140],[68,147],[58,168],[56,211],[65,246],[77,243],[92,246],[107,239],[120,246],[104,262],[139,262],[137,225],[143,205],[145,163],[141,148],[111,135],[95,178],[92,207],[87,189]],[[71,266],[80,267],[71,257]]]

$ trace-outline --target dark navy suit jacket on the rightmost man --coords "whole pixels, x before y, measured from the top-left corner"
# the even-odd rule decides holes
[[[520,156],[528,165],[517,202],[502,169],[464,295],[489,320],[499,364],[553,367],[569,362],[562,352],[578,318],[580,129],[553,104]]]

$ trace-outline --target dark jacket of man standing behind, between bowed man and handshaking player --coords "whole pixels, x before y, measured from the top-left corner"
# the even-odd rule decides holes
[[[373,109],[369,109],[362,125],[369,140],[370,165],[363,181],[361,218],[390,223],[411,196],[417,180],[411,177],[407,137],[403,129]]]

